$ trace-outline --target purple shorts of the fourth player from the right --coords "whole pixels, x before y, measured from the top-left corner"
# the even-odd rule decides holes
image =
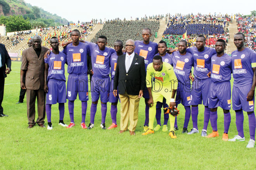
[[[176,99],[175,99],[176,106],[180,103],[183,106],[191,105],[190,91],[191,91],[190,84],[182,84],[178,82],[178,88],[177,88]]]

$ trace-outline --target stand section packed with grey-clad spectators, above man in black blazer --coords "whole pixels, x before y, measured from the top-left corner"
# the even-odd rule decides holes
[[[142,41],[141,34],[145,27],[149,27],[151,29],[152,36],[150,37],[150,41],[154,41],[155,34],[159,29],[158,20],[111,20],[107,21],[103,28],[97,32],[95,37],[92,39],[92,42],[95,42],[97,37],[100,35],[105,35],[107,37],[107,46],[109,47],[114,47],[114,42],[117,39],[120,39],[123,42],[126,42],[128,39]]]

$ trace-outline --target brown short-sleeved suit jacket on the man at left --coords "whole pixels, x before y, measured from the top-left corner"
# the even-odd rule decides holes
[[[33,46],[22,51],[21,70],[26,70],[26,88],[29,90],[43,89],[44,87],[44,58],[43,55],[48,50],[41,46],[41,53],[38,58]]]

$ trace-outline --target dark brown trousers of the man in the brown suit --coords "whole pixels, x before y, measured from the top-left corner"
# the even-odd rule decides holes
[[[29,90],[26,89],[27,92],[27,115],[28,115],[28,124],[38,125],[45,123],[45,92],[43,89],[38,90]],[[35,122],[36,110],[35,110],[35,102],[37,99],[37,112],[38,118]]]

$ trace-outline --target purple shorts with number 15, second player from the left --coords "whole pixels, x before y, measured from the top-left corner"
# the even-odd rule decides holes
[[[67,99],[76,100],[77,93],[79,100],[85,102],[89,99],[88,96],[88,76],[69,74],[67,80]]]

